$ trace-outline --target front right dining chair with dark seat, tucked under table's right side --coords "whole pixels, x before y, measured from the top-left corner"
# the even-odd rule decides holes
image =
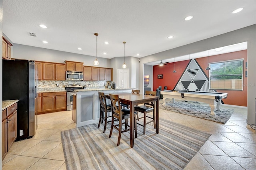
[[[156,91],[146,91],[145,92],[146,95],[152,95],[152,96],[156,96]],[[150,102],[150,103],[144,103],[144,105],[142,106],[136,106],[134,107],[134,111],[140,112],[140,113],[144,113],[143,117],[139,117],[138,119],[144,119],[143,125],[140,123],[137,123],[138,125],[143,127],[143,134],[146,133],[146,125],[148,123],[153,122],[154,123],[154,128],[156,128],[156,123],[155,123],[155,102]],[[153,113],[153,116],[147,116],[148,113]],[[152,119],[152,121],[148,121],[146,122],[146,118],[150,118]]]

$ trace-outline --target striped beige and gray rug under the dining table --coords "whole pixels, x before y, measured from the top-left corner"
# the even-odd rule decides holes
[[[160,132],[152,123],[138,126],[134,147],[130,148],[130,133],[122,133],[117,146],[118,131],[110,124],[103,133],[103,124],[73,128],[61,132],[62,146],[68,170],[181,170],[198,152],[211,134],[184,125],[160,120]]]

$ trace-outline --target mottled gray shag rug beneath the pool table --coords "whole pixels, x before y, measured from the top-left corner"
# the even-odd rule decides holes
[[[175,101],[175,103],[167,102],[165,105],[160,104],[160,109],[181,113],[217,123],[225,124],[231,117],[234,109],[224,109],[220,107],[220,111],[214,111],[216,115],[211,115],[211,108],[207,105],[201,105],[192,102]]]

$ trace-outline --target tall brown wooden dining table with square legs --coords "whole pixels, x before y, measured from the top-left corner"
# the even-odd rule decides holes
[[[119,100],[121,103],[130,105],[130,146],[134,146],[134,106],[156,102],[155,111],[156,111],[156,133],[159,133],[159,97],[150,96],[150,95],[141,95],[133,93],[110,93],[113,95],[119,95]],[[110,99],[109,94],[105,94],[107,99]]]

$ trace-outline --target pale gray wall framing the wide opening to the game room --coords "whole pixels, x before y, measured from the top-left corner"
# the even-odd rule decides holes
[[[248,114],[247,119],[250,125],[255,125],[255,98],[256,98],[256,24],[221,34],[212,38],[201,40],[198,42],[190,43],[184,46],[176,47],[162,51],[160,53],[148,55],[140,58],[139,65],[139,88],[142,91],[144,87],[143,75],[144,75],[144,63],[157,61],[160,59],[169,59],[174,57],[180,57],[182,55],[189,55],[191,53],[197,53],[200,51],[206,51],[208,49],[214,49],[227,45],[232,45],[241,42],[248,42],[247,47],[247,60],[248,60],[248,78],[247,78],[247,100],[248,100]],[[244,82],[246,84],[246,82]],[[238,97],[239,100],[239,97]]]

